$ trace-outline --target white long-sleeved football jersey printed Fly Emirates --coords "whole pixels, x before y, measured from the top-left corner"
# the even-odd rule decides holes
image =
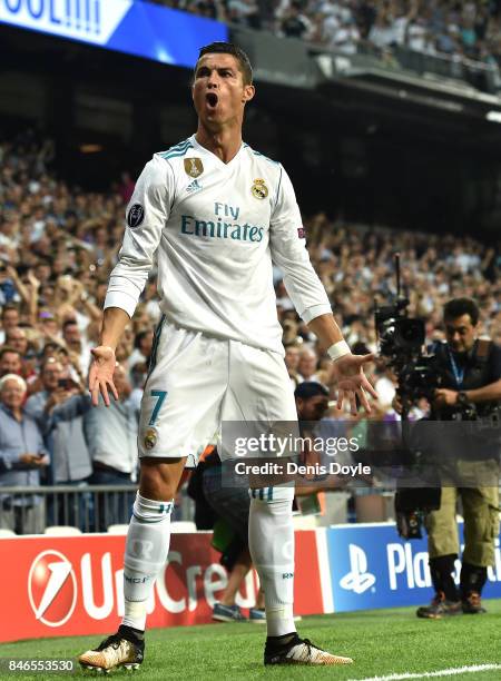
[[[158,253],[158,294],[183,328],[283,354],[272,260],[306,322],[331,312],[284,168],[243,144],[223,162],[191,136],[146,165],[106,307],[132,316]]]

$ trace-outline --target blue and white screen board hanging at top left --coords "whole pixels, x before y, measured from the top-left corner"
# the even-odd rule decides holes
[[[0,23],[193,67],[224,23],[139,0],[0,0]]]

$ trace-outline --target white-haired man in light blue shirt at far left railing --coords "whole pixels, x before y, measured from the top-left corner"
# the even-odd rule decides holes
[[[0,486],[40,485],[40,471],[49,463],[37,422],[22,408],[26,383],[17,374],[0,379]],[[45,503],[36,495],[0,495],[0,525],[17,534],[45,529]]]

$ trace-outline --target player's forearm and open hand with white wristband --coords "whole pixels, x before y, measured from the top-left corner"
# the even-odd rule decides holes
[[[351,405],[352,414],[356,414],[356,397],[358,397],[362,406],[367,414],[370,414],[371,406],[365,392],[376,399],[377,393],[369,383],[363,366],[372,362],[374,355],[352,355],[350,348],[344,343],[343,334],[332,314],[315,317],[310,322],[308,328],[317,336],[324,347],[330,348],[330,355],[334,363],[334,377],[337,385],[337,408],[341,409],[344,399],[347,399]],[[340,344],[337,346],[340,349],[336,348],[336,344]],[[343,344],[345,345],[344,349]]]

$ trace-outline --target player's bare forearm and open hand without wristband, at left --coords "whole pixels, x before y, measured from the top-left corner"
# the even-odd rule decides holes
[[[114,383],[117,364],[115,351],[129,322],[129,315],[120,307],[107,307],[105,309],[100,343],[90,351],[92,363],[89,371],[89,392],[94,406],[99,403],[99,393],[102,395],[106,406],[109,406],[108,387],[115,399],[118,399]]]

